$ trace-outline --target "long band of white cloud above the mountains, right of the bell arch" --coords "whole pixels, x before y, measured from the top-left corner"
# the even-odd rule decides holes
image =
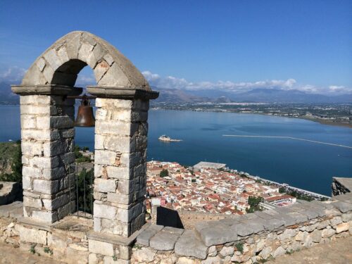
[[[297,89],[303,92],[312,94],[344,94],[352,92],[351,89],[343,86],[332,85],[329,87],[316,87],[310,84],[298,84],[295,79],[287,80],[262,80],[257,82],[189,82],[184,78],[177,78],[173,76],[161,77],[156,73],[151,73],[146,70],[142,73],[146,80],[152,86],[166,88],[166,89],[185,89],[185,90],[202,90],[202,89],[222,89],[227,92],[239,93],[246,92],[251,89]]]

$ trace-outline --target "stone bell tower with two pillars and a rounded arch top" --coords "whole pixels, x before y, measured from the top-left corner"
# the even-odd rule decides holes
[[[74,87],[92,68],[96,85],[94,233],[130,237],[145,222],[146,145],[151,91],[115,47],[89,32],[70,32],[27,71],[20,94],[24,219],[60,220],[75,208],[68,165],[75,162]],[[99,236],[98,236],[99,237]]]

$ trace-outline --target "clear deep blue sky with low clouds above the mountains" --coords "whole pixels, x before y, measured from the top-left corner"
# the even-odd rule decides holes
[[[352,1],[2,0],[0,80],[19,80],[56,39],[86,30],[154,85],[352,92],[351,13]]]

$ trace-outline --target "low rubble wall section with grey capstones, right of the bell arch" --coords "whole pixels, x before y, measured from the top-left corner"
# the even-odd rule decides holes
[[[352,194],[199,222],[195,230],[150,225],[132,263],[256,263],[352,234]]]

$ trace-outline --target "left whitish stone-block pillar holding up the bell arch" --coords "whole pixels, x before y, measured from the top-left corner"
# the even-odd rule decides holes
[[[45,94],[27,95],[29,90],[13,87],[21,95],[23,213],[25,218],[51,223],[75,209],[74,192],[70,205],[66,169],[75,162],[75,100],[51,94],[51,85],[44,87]]]

